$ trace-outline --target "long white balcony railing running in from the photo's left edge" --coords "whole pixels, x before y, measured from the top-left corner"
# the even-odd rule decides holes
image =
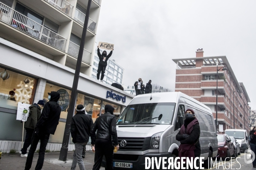
[[[62,51],[67,39],[0,3],[0,20]]]

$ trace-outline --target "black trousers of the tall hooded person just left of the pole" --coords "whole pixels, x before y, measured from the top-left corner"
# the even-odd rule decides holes
[[[35,166],[35,170],[42,169],[43,164],[44,164],[44,153],[45,153],[46,146],[47,146],[47,143],[49,140],[49,136],[50,136],[50,134],[45,133],[45,132],[33,133],[31,147],[29,149],[29,154],[26,159],[25,170],[29,170],[31,168],[33,156],[34,156],[34,153],[35,153],[35,150],[36,150],[39,140],[40,140],[39,156],[38,156],[37,164]]]

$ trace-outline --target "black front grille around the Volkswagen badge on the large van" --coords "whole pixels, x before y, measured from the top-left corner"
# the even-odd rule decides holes
[[[118,138],[119,150],[144,151],[149,149],[151,137],[147,138]],[[126,146],[122,147],[120,142],[126,141]]]

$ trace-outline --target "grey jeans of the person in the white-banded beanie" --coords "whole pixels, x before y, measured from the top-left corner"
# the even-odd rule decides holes
[[[73,162],[72,162],[71,170],[76,169],[76,163],[78,163],[80,170],[85,170],[82,153],[84,150],[84,146],[86,146],[86,144],[87,144],[87,142],[76,142],[75,143],[75,150],[74,150],[74,154],[73,154]]]

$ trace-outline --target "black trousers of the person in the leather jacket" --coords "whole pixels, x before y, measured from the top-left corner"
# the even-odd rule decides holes
[[[107,166],[105,170],[113,170],[113,144],[109,140],[96,139],[93,170],[99,170],[102,158],[105,156]]]

